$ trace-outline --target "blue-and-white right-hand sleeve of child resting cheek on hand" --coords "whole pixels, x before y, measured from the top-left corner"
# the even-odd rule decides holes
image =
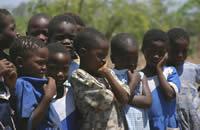
[[[180,82],[178,73],[177,73],[177,71],[176,71],[176,69],[174,67],[170,67],[170,69],[171,69],[171,72],[167,77],[167,81],[172,86],[174,91],[176,93],[179,93],[180,92],[181,82]]]

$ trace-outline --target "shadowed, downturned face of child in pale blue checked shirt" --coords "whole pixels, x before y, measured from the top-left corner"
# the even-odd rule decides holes
[[[119,50],[116,56],[111,55],[111,59],[116,69],[129,69],[134,71],[137,67],[138,49],[136,47],[127,47],[123,52]]]

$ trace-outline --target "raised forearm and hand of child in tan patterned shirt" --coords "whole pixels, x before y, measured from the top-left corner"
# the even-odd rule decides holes
[[[121,104],[127,104],[129,101],[129,97],[130,97],[130,92],[126,91],[126,89],[122,86],[122,84],[120,84],[116,78],[114,77],[114,75],[112,74],[111,70],[103,67],[99,69],[99,72],[105,76],[105,78],[108,80],[112,91],[115,95],[115,97],[117,98],[117,100],[121,103]]]

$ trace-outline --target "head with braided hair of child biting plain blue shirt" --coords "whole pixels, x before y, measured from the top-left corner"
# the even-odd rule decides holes
[[[48,49],[34,37],[19,37],[10,47],[10,57],[19,76],[42,78],[46,75]]]

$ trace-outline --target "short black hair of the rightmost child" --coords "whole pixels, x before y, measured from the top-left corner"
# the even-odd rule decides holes
[[[184,38],[188,42],[190,41],[189,34],[183,28],[172,28],[168,32],[169,43],[173,45],[176,43],[176,40]]]

